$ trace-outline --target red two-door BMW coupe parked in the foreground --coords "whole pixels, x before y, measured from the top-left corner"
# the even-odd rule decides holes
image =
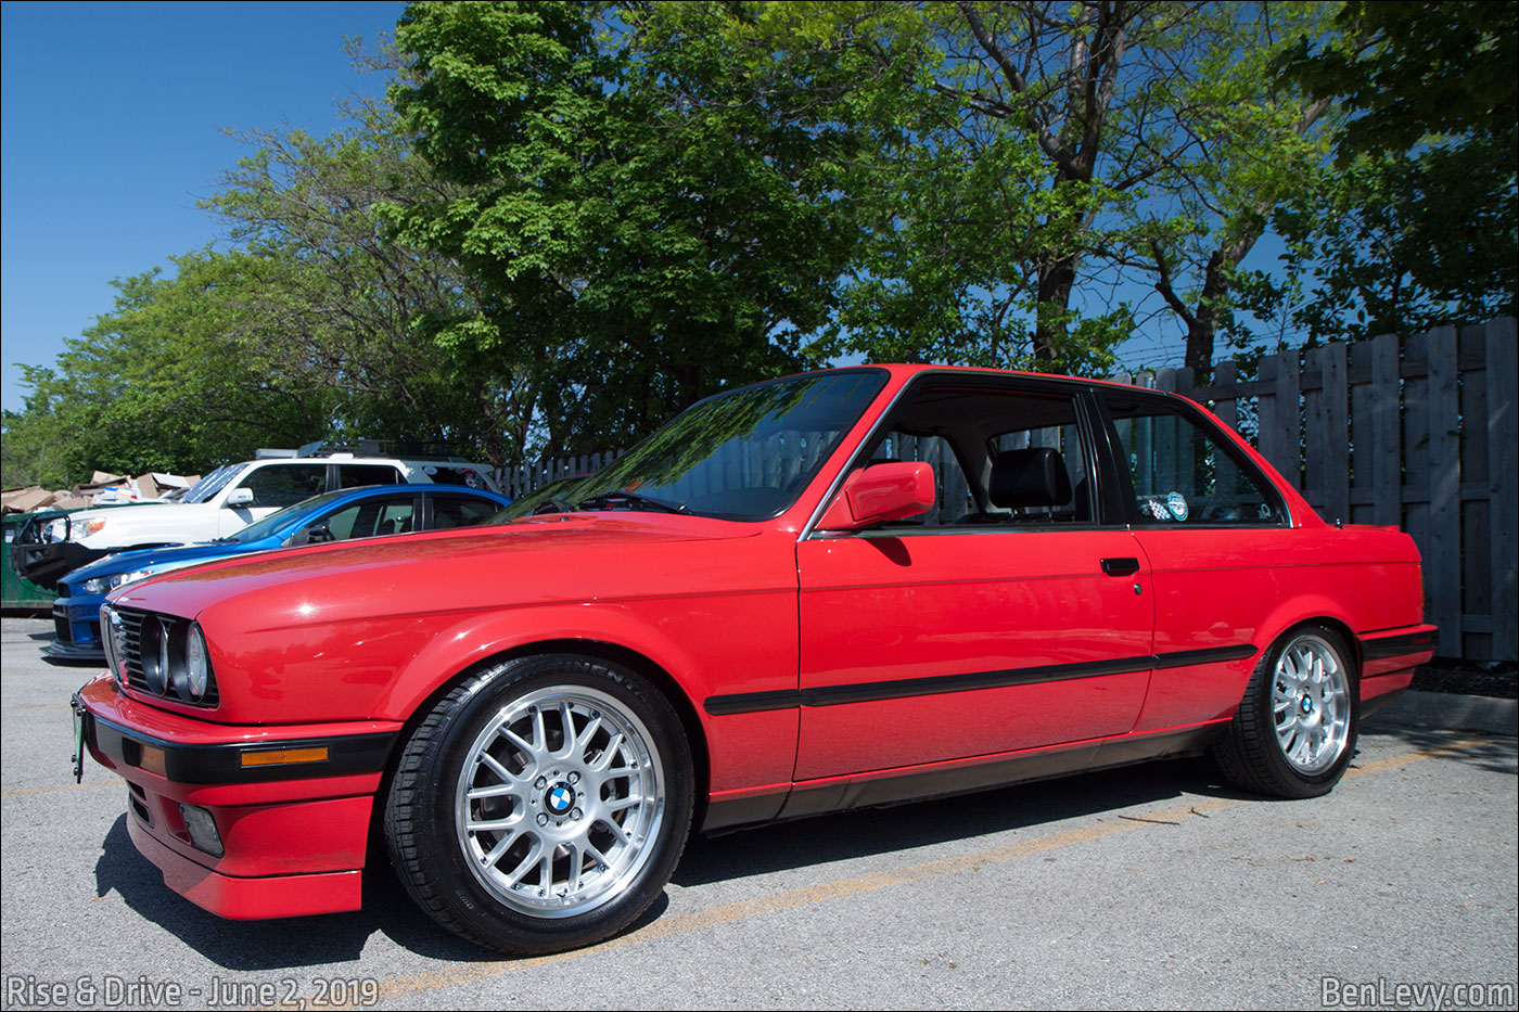
[[[1180,397],[861,366],[720,394],[547,512],[134,583],[81,752],[228,918],[586,945],[687,836],[1211,751],[1328,792],[1432,653],[1419,553]]]

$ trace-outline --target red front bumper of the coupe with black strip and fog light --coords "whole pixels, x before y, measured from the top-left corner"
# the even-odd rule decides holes
[[[132,843],[170,889],[235,919],[358,909],[399,725],[217,725],[137,702],[108,675],[74,702],[85,748],[128,783]],[[305,761],[269,761],[287,757]],[[182,805],[210,813],[220,854],[196,845]]]

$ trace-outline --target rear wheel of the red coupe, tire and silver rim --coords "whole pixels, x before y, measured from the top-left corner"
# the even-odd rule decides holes
[[[1273,643],[1212,748],[1224,776],[1277,798],[1329,793],[1355,757],[1360,731],[1361,688],[1352,658],[1337,632],[1317,625],[1290,629]],[[1312,673],[1315,663],[1322,678]]]

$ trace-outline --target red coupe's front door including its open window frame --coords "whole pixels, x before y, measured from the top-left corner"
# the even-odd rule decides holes
[[[1150,574],[1100,494],[1085,398],[930,374],[866,444],[861,466],[931,462],[939,503],[799,541],[797,781],[1133,728]]]

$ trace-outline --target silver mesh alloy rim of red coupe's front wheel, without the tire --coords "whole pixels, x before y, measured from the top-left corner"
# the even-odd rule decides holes
[[[620,897],[664,819],[652,742],[623,702],[594,688],[541,688],[503,707],[469,746],[454,793],[469,871],[533,916],[574,916]]]

